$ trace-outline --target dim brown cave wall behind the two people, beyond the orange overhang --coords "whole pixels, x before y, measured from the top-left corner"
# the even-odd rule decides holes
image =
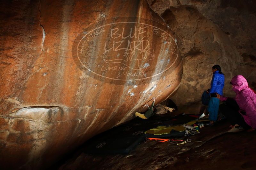
[[[212,66],[225,74],[224,94],[237,74],[256,89],[255,1],[148,0],[180,39],[182,82],[172,100],[181,111],[199,112],[201,94],[210,88]]]

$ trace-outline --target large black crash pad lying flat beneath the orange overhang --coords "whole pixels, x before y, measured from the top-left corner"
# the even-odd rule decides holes
[[[145,131],[161,124],[172,124],[170,116],[135,118],[127,124],[105,131],[84,144],[84,152],[90,154],[129,154],[145,139]]]

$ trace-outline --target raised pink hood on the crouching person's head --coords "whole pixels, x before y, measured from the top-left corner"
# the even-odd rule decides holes
[[[236,75],[232,78],[231,83],[233,85],[233,90],[239,93],[241,90],[248,88],[248,82],[242,75]]]

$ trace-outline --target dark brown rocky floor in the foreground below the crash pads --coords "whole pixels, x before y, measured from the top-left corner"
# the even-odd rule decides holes
[[[144,141],[129,155],[89,155],[80,148],[59,169],[255,169],[256,131],[226,133],[229,123],[200,129],[204,142]]]

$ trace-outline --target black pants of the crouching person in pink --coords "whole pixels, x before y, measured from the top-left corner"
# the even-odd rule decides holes
[[[238,124],[244,129],[251,128],[251,126],[245,123],[244,117],[238,112],[239,106],[234,99],[228,98],[227,101],[220,105],[219,109],[232,125]]]

